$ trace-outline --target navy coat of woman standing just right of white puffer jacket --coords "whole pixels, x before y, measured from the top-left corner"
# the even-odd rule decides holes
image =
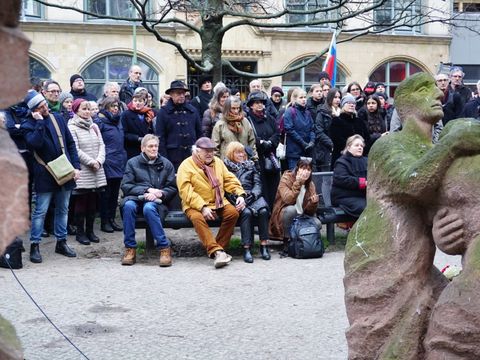
[[[127,164],[127,151],[124,147],[124,133],[119,115],[101,110],[98,119],[95,121],[102,133],[105,143],[105,177],[107,179],[118,179],[123,177],[125,165]]]

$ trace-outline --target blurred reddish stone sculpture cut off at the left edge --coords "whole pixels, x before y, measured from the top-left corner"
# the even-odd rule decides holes
[[[18,29],[21,0],[0,7],[0,109],[25,97],[30,41]],[[15,236],[28,230],[27,167],[6,130],[0,126],[0,254]],[[0,316],[0,359],[23,359],[15,329]]]

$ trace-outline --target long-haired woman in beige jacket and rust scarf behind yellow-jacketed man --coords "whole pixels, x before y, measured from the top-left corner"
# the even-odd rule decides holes
[[[245,118],[242,110],[242,101],[234,96],[229,96],[222,109],[222,119],[213,127],[212,141],[216,145],[215,155],[223,159],[227,146],[232,141],[238,141],[243,146],[252,149],[252,160],[258,161],[255,133],[252,125]]]

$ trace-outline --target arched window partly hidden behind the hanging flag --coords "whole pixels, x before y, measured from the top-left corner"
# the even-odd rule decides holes
[[[295,61],[290,67],[300,64],[305,59],[300,59]],[[322,71],[323,62],[325,58],[320,58],[317,61],[311,63],[310,65],[305,66],[300,70],[283,75],[282,77],[282,88],[284,91],[287,91],[289,88],[294,86],[299,86],[305,91],[310,90],[312,84],[318,83],[318,74]],[[346,84],[345,73],[337,65],[337,78],[335,79],[335,87],[341,89]]]

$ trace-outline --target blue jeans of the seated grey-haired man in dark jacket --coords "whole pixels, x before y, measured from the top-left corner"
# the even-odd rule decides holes
[[[135,241],[135,218],[138,210],[143,207],[143,217],[148,223],[150,230],[152,231],[153,238],[157,244],[157,248],[166,248],[170,246],[170,242],[165,236],[163,230],[162,221],[160,218],[160,212],[158,211],[157,204],[152,201],[144,203],[137,203],[133,200],[127,200],[123,205],[123,242],[127,248],[136,248],[137,242]]]

